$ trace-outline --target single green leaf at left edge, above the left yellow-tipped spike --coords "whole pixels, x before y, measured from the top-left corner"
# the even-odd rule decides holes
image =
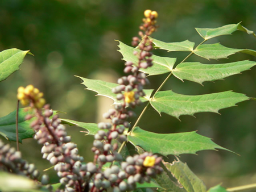
[[[7,49],[0,52],[0,81],[6,80],[22,64],[24,57],[29,51],[19,49]]]

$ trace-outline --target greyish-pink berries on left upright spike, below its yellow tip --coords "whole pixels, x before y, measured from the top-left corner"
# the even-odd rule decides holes
[[[48,105],[44,106],[44,114],[39,110],[36,112],[38,118],[31,123],[36,132],[34,137],[39,144],[43,144],[43,158],[55,165],[54,169],[65,191],[83,191],[86,187],[84,181],[90,177],[86,165],[82,164],[84,158],[78,155],[77,145],[71,143],[71,137],[67,136],[58,116],[52,115],[53,111]]]

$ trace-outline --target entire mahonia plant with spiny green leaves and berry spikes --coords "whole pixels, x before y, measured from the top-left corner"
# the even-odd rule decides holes
[[[123,76],[117,80],[117,84],[110,84],[100,80],[89,80],[80,77],[89,90],[96,91],[100,95],[112,98],[114,108],[103,114],[106,122],[93,124],[94,135],[92,151],[93,162],[85,164],[84,158],[79,155],[77,145],[71,142],[63,124],[75,125],[86,128],[86,123],[76,122],[68,119],[59,119],[58,115],[46,105],[43,93],[32,85],[19,87],[17,98],[22,105],[30,105],[30,112],[22,109],[21,116],[25,114],[23,123],[30,122],[34,138],[42,144],[43,158],[46,158],[54,166],[57,176],[60,177],[60,184],[64,186],[55,191],[90,191],[101,192],[112,190],[119,191],[145,191],[138,189],[140,184],[146,188],[158,188],[157,191],[175,192],[206,192],[207,187],[184,164],[176,157],[172,163],[164,162],[162,156],[179,156],[184,153],[195,154],[201,150],[225,149],[213,143],[208,137],[201,136],[196,132],[159,134],[142,130],[138,127],[139,120],[148,106],[156,111],[165,112],[168,115],[179,119],[180,115],[193,115],[196,112],[218,112],[222,108],[235,106],[236,103],[246,101],[249,98],[241,93],[224,91],[205,95],[183,95],[174,91],[161,91],[169,78],[173,75],[181,81],[189,80],[203,84],[205,81],[222,80],[223,78],[248,70],[256,62],[237,61],[225,64],[201,64],[200,62],[187,62],[191,55],[197,55],[205,59],[221,59],[241,52],[256,56],[256,51],[250,49],[233,49],[217,44],[204,44],[207,40],[221,35],[231,35],[234,31],[245,31],[247,34],[254,34],[247,30],[241,23],[229,24],[218,28],[196,28],[203,41],[195,47],[191,41],[165,43],[150,37],[156,30],[156,11],[144,11],[145,18],[140,26],[139,37],[133,37],[132,45],[129,47],[119,41],[119,52],[125,60]],[[179,64],[175,66],[176,58],[160,57],[152,55],[154,48],[171,51],[188,52]],[[3,58],[3,65],[9,66],[15,63],[18,67],[22,64],[24,56],[28,51],[9,49],[0,53]],[[0,61],[1,62],[1,61]],[[1,63],[0,63],[1,64]],[[5,80],[16,68],[10,68],[7,72],[0,68],[0,81]],[[145,90],[144,85],[149,84],[146,74],[149,76],[169,73],[163,83],[156,89]],[[131,126],[129,118],[135,116],[133,108],[147,102],[137,121]],[[31,110],[32,108],[32,110]],[[19,110],[18,110],[19,111]],[[17,111],[17,112],[18,112]],[[31,113],[31,111],[34,111]],[[6,119],[14,119],[14,113],[9,114]],[[18,118],[17,118],[18,119]],[[20,123],[21,120],[17,120]],[[19,133],[22,133],[19,129]],[[33,134],[30,134],[31,137]],[[1,132],[0,132],[1,134]],[[13,133],[7,132],[7,139],[15,140]],[[18,136],[16,141],[26,139],[29,136]],[[127,143],[134,147],[141,147],[144,151],[138,150],[134,156],[124,155],[127,150]],[[164,145],[163,145],[164,142]],[[229,150],[228,150],[229,151]],[[156,155],[156,153],[160,154]],[[165,158],[166,160],[166,158]],[[43,175],[39,180],[39,171],[34,164],[28,164],[22,159],[21,153],[11,148],[9,144],[0,141],[0,170],[20,174],[31,178],[40,185],[44,185],[48,191],[53,191],[53,186],[48,183],[48,176]],[[162,174],[161,174],[162,173]],[[172,177],[174,176],[174,177]],[[176,180],[175,180],[176,178]],[[40,181],[40,182],[39,182]],[[150,183],[149,183],[150,182]],[[146,183],[146,185],[145,185]],[[178,183],[178,184],[177,184]],[[0,185],[1,187],[1,185]],[[236,189],[225,189],[217,185],[208,192],[238,191],[255,188],[256,185],[241,186]],[[2,188],[0,188],[2,190]],[[151,190],[151,189],[150,189]],[[154,190],[151,190],[154,191]]]

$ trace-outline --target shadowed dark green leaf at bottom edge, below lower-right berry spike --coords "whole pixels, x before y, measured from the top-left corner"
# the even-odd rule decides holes
[[[176,183],[171,180],[166,172],[158,175],[155,180],[160,186],[164,187],[164,189],[159,189],[161,192],[187,192],[182,186],[176,185]]]

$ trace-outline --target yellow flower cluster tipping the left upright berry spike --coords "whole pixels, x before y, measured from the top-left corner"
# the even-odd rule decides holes
[[[42,108],[46,103],[46,100],[42,98],[43,95],[44,94],[40,92],[39,89],[35,88],[33,85],[28,85],[18,88],[17,98],[23,106],[28,105],[31,100],[35,108]]]

